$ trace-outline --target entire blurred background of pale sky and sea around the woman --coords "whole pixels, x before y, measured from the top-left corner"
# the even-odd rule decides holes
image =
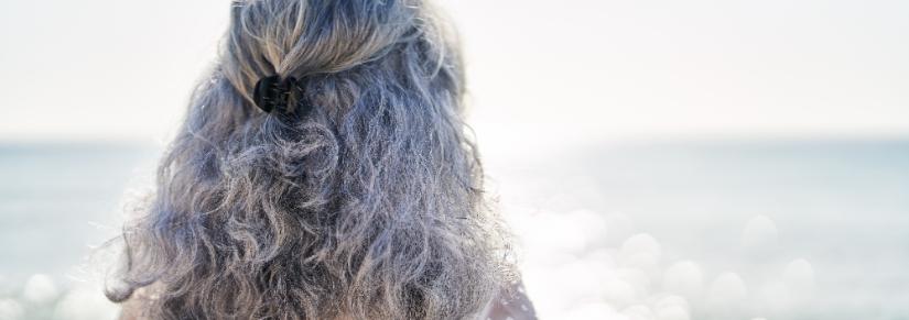
[[[909,319],[909,2],[439,3],[543,319]],[[0,319],[116,316],[228,9],[0,1]]]

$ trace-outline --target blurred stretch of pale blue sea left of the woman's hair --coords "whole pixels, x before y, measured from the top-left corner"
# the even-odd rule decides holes
[[[112,319],[96,247],[158,150],[130,144],[0,145],[0,319]]]

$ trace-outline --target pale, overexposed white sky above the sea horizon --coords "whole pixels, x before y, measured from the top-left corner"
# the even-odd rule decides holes
[[[0,141],[165,139],[229,3],[2,0]],[[442,3],[490,141],[909,135],[909,1]]]

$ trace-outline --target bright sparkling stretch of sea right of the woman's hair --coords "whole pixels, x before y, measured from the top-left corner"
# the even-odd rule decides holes
[[[539,261],[569,251],[563,260],[584,263],[606,247],[612,257],[594,269],[657,269],[649,284],[637,285],[645,293],[607,297],[608,308],[600,306],[597,315],[636,301],[652,309],[661,295],[677,295],[688,301],[691,319],[909,319],[907,141],[664,142],[515,163],[497,164],[493,174],[506,206],[518,203],[508,208],[510,216],[531,221],[523,239],[588,234],[542,250]],[[527,218],[533,214],[574,222],[558,230],[535,225]],[[597,233],[606,236],[589,235]],[[626,249],[636,246],[627,240],[634,234],[654,240],[653,261],[623,261]],[[543,246],[531,242],[526,249]],[[539,261],[529,257],[526,268]],[[692,269],[686,262],[694,271],[685,273]],[[689,277],[679,279],[680,269]],[[589,277],[558,271],[541,268],[552,275],[540,277],[545,290],[565,279],[576,290]],[[678,288],[680,282],[688,288]],[[592,288],[585,297],[608,291]],[[577,298],[571,300],[549,315],[576,308]],[[723,310],[723,302],[735,310]]]

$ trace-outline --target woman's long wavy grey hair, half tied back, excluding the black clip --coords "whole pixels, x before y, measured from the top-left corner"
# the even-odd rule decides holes
[[[108,296],[148,291],[154,319],[476,316],[508,267],[458,55],[424,1],[235,1]],[[257,108],[269,76],[309,111]]]

